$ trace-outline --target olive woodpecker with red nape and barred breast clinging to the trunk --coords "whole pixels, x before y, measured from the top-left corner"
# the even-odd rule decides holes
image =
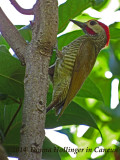
[[[85,23],[70,20],[85,32],[59,52],[53,75],[53,99],[47,112],[53,107],[56,115],[62,115],[65,108],[81,88],[83,82],[91,72],[100,50],[108,45],[109,28],[97,21],[89,20]]]

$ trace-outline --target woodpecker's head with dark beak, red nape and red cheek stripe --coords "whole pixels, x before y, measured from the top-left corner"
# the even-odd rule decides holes
[[[85,23],[75,21],[75,20],[70,20],[70,21],[72,21],[73,23],[78,25],[80,28],[82,28],[82,30],[88,35],[94,36],[103,32],[106,33],[106,37],[107,37],[106,45],[109,44],[109,39],[110,39],[109,28],[104,23],[101,23],[97,20],[89,20]]]

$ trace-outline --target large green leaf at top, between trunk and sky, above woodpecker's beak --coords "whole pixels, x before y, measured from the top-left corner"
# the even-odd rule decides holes
[[[91,0],[67,0],[61,4],[59,6],[58,33],[61,33],[67,27],[69,19],[78,16],[90,6]]]

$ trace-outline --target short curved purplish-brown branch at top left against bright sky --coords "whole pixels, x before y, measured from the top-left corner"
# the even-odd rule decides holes
[[[10,2],[18,12],[25,15],[33,15],[33,9],[24,9],[15,0],[10,0]]]

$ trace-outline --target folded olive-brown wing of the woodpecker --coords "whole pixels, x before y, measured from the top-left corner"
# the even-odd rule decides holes
[[[81,88],[83,82],[92,70],[95,61],[96,53],[94,43],[90,40],[83,41],[76,56],[69,91],[59,118]]]

